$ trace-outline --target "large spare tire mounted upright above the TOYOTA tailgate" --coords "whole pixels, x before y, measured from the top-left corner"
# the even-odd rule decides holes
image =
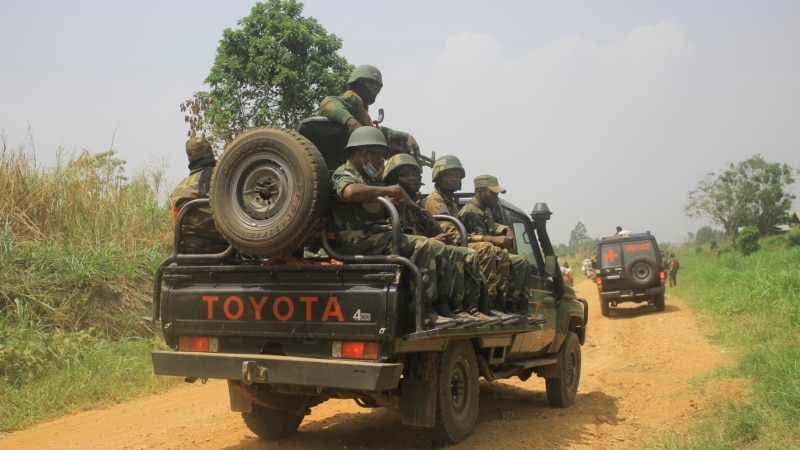
[[[228,144],[208,193],[217,229],[254,256],[290,256],[317,237],[329,195],[322,154],[278,127],[252,129]]]

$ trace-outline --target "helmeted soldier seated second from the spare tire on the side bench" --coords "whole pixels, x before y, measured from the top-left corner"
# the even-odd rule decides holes
[[[386,162],[386,167],[383,170],[383,183],[386,185],[399,184],[412,200],[417,201],[421,176],[422,168],[417,163],[417,160],[411,155],[400,153],[392,156]],[[417,201],[417,203],[419,202]],[[444,232],[433,216],[422,208],[417,210],[401,208],[400,219],[405,233],[427,236],[446,244],[455,242],[455,233],[452,230]],[[475,321],[476,325],[480,326],[499,324],[499,317],[487,316],[478,309],[478,301],[481,294],[481,275],[478,267],[477,252],[469,247],[454,245],[448,245],[447,247],[448,250],[457,253],[459,258],[454,260],[456,276],[453,279],[453,292],[450,295],[449,311],[439,311],[439,314],[450,317],[448,315],[448,312],[450,312],[455,317]]]

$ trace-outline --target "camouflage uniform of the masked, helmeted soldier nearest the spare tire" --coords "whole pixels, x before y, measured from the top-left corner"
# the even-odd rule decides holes
[[[339,198],[349,184],[377,186],[376,180],[365,179],[350,161],[337,168],[331,177]],[[392,250],[392,231],[386,212],[377,202],[334,202],[331,206],[333,231],[337,250],[346,254],[388,255]],[[437,299],[453,295],[453,281],[458,278],[447,246],[434,239],[408,234],[400,235],[399,253],[417,266],[422,275],[425,300],[434,304]],[[462,262],[463,264],[463,262]],[[462,269],[463,270],[463,269]]]

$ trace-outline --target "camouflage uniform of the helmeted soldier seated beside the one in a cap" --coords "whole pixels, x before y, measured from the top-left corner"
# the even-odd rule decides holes
[[[451,217],[458,217],[458,204],[452,196],[442,195],[439,188],[434,188],[434,191],[425,198],[423,207],[431,214],[435,215],[448,215]],[[442,229],[445,232],[455,232],[458,234],[456,226],[450,222],[442,221]],[[460,239],[460,238],[459,238]],[[493,302],[497,297],[497,287],[500,285],[503,273],[498,267],[498,260],[502,259],[502,254],[508,254],[507,250],[500,247],[495,247],[490,242],[481,242],[474,235],[467,235],[467,245],[470,249],[474,250],[471,255],[472,264],[477,264],[477,268],[486,277],[486,291],[489,296],[489,302]],[[508,259],[507,257],[505,258]],[[508,279],[508,264],[505,264],[505,279]],[[472,289],[476,289],[474,286]],[[480,295],[480,286],[477,287],[476,296]],[[470,299],[471,300],[471,299]],[[468,299],[464,300],[465,305],[472,305],[467,303]],[[477,300],[476,303],[477,304]]]

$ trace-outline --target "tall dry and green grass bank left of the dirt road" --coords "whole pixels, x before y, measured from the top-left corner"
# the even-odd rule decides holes
[[[0,431],[163,388],[140,319],[171,250],[163,170],[0,150]]]

